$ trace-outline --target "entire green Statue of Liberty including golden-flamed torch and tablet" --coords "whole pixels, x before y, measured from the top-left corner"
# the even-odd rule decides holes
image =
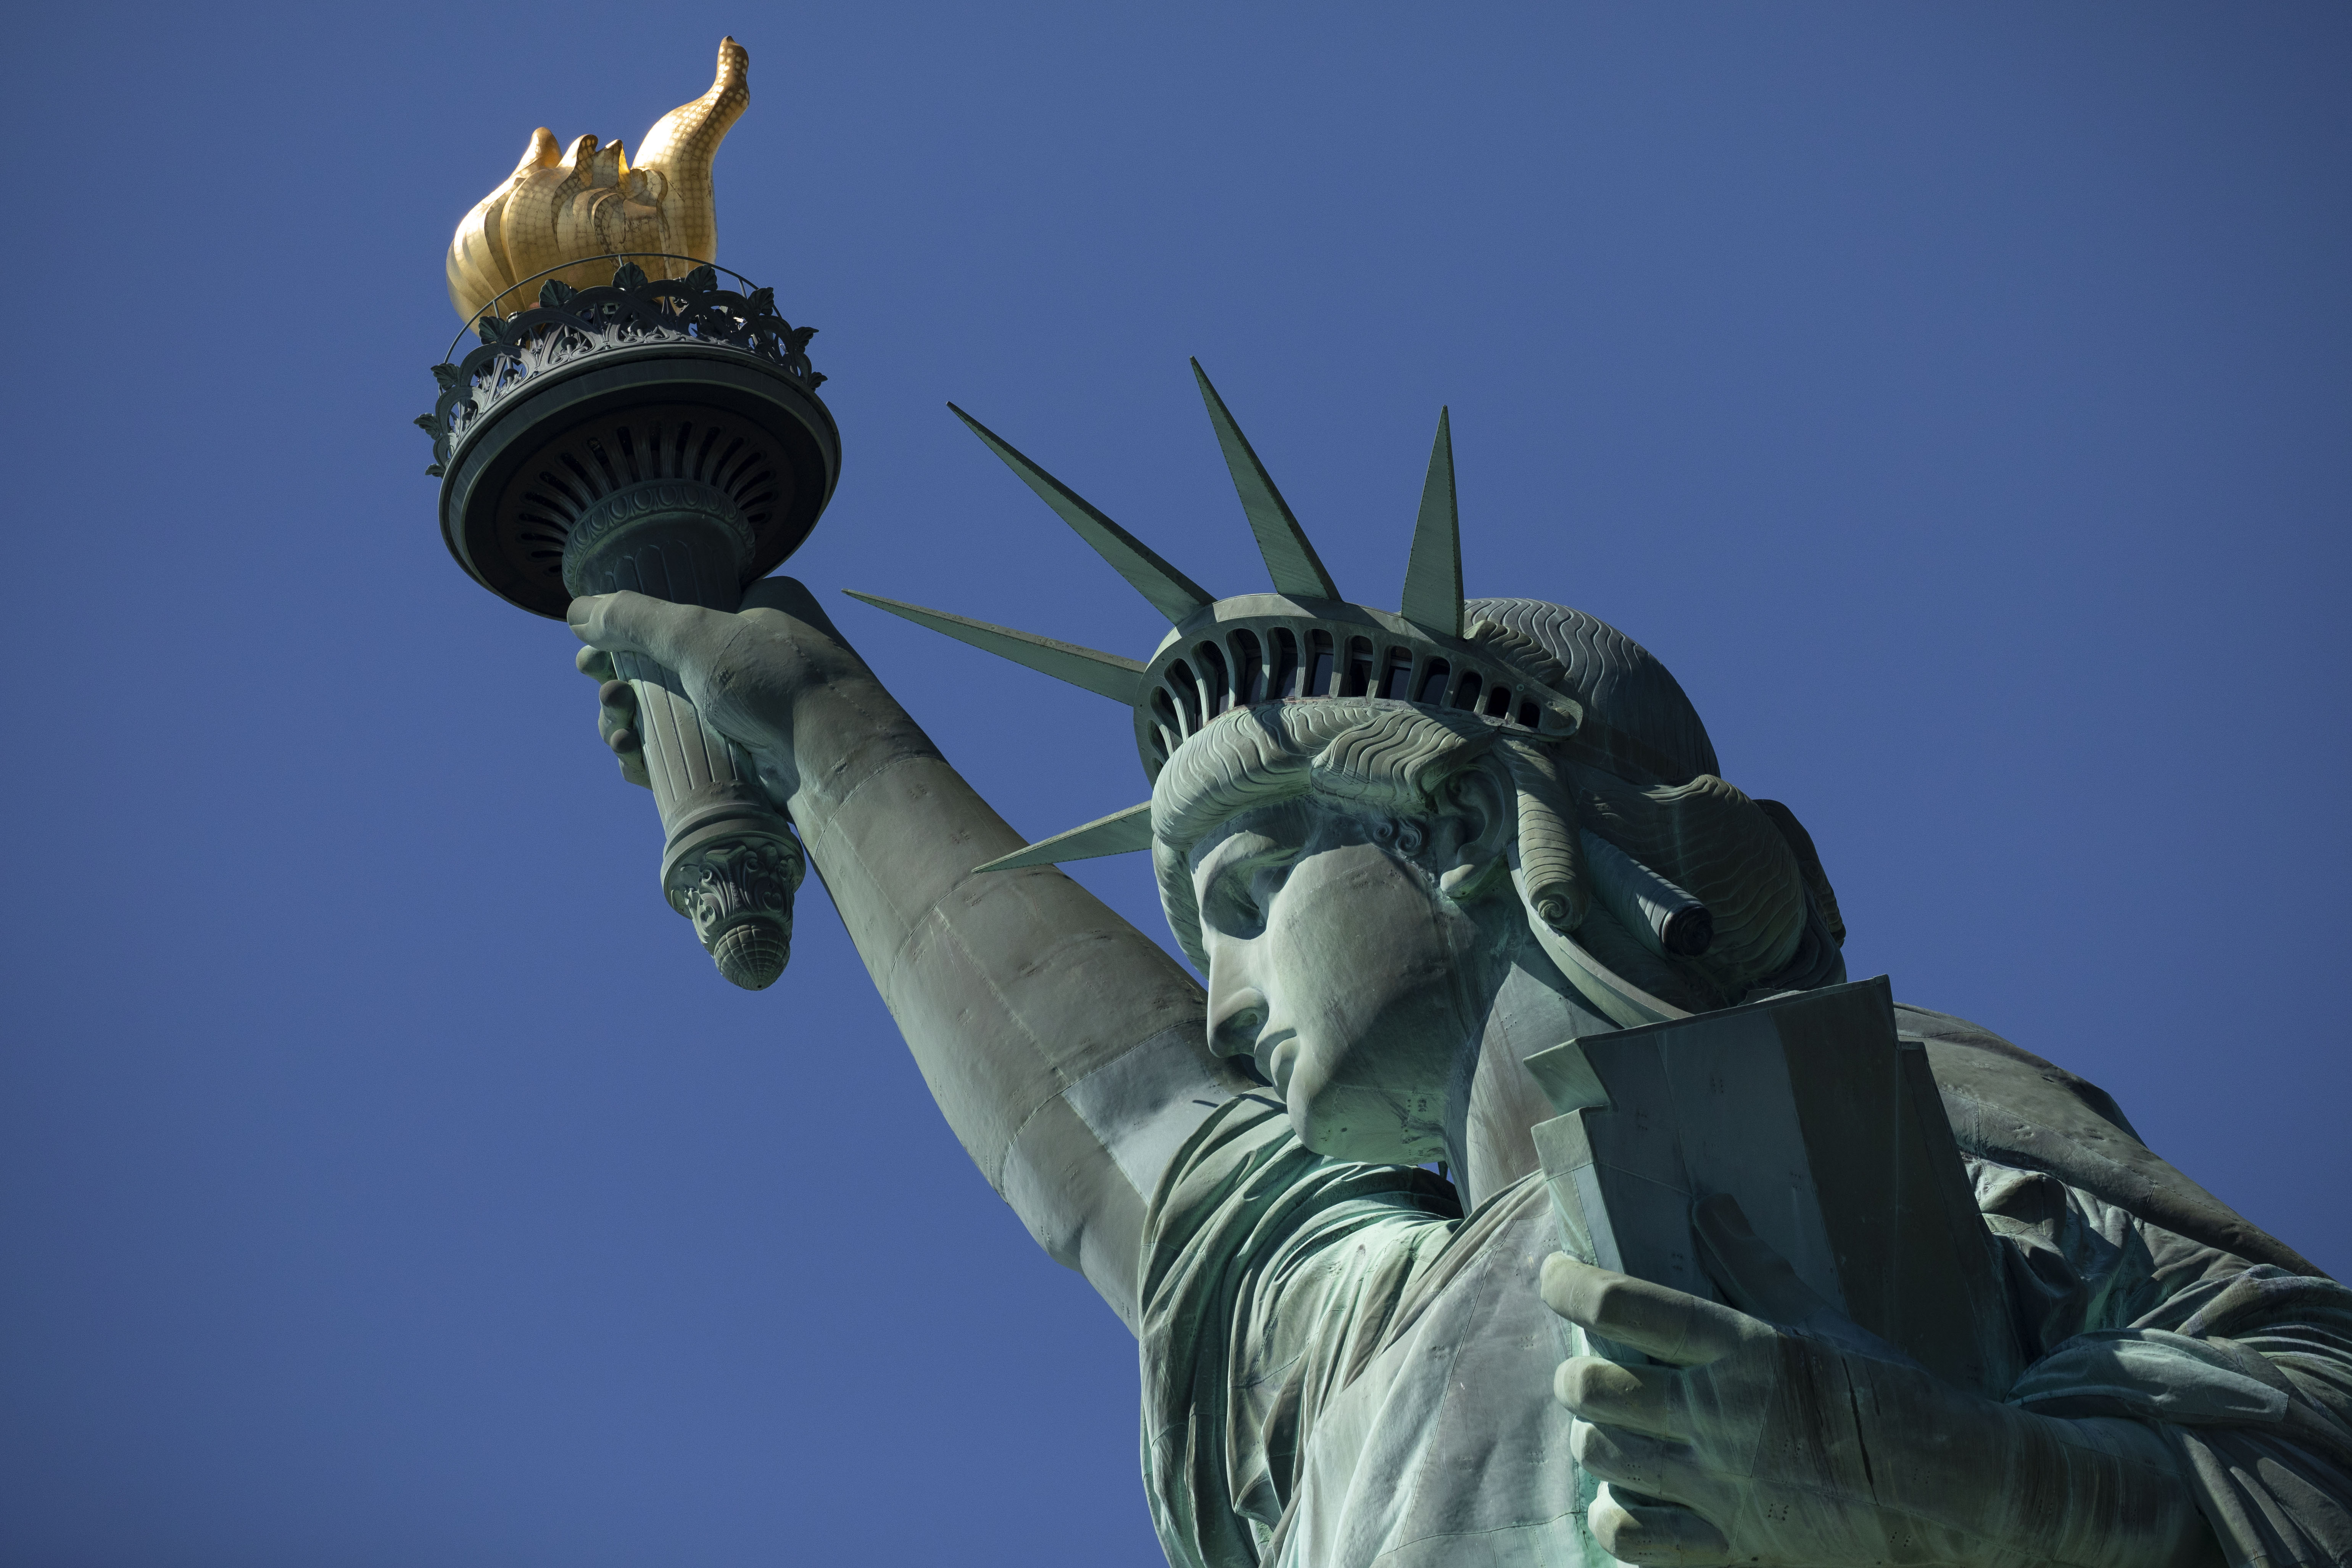
[[[727,978],[776,978],[814,863],[948,1126],[1134,1331],[1171,1563],[2352,1563],[2352,1293],[2103,1091],[1849,985],[1811,837],[1724,778],[1665,665],[1465,597],[1442,414],[1397,611],[1341,592],[1207,376],[1270,592],[1211,595],[967,416],[1171,628],[1136,661],[868,599],[1134,712],[1150,799],[1023,844],[764,576],[837,437],[809,329],[713,261],[746,61],[722,40],[637,165],[536,132],[459,226],[482,348],[419,421],[445,536],[501,597],[569,604]],[[1120,851],[1207,987],[1056,870]],[[1757,1051],[1689,1044],[1818,1044],[1853,999],[1877,1056],[1837,1060],[1900,1070],[1867,1114],[1813,1053],[1776,1121]],[[1668,1039],[1653,1063],[1719,1072],[1653,1126],[1623,1074]],[[1896,1121],[1943,1187],[1853,1154]],[[1792,1124],[1797,1157],[1757,1154]],[[1675,1185],[1708,1159],[1724,1180]],[[1790,1241],[1802,1192],[1898,1225],[1832,1279]],[[1882,1333],[1870,1269],[1931,1244],[1978,1272],[1903,1300],[1957,1328]]]

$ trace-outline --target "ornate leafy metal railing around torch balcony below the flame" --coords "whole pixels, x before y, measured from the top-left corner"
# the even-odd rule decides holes
[[[661,259],[691,261],[691,256]],[[795,327],[776,315],[774,289],[753,287],[741,273],[727,275],[743,289],[722,287],[720,268],[708,263],[696,263],[684,277],[647,277],[637,261],[626,256],[616,261],[621,266],[609,287],[574,289],[560,277],[548,277],[539,287],[534,308],[506,317],[485,310],[473,324],[482,343],[463,360],[454,355],[466,334],[452,339],[452,360],[433,367],[440,402],[416,418],[433,437],[428,475],[440,475],[459,437],[534,376],[602,353],[654,343],[722,346],[757,355],[811,393],[826,381],[807,353],[816,327]],[[569,261],[548,270],[574,266],[579,263]],[[515,287],[529,282],[527,277]]]

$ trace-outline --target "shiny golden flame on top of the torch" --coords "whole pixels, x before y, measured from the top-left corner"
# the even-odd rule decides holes
[[[717,261],[710,162],[727,127],[750,103],[748,66],[743,45],[722,38],[710,92],[656,120],[637,143],[635,165],[621,141],[581,136],[557,153],[553,132],[532,132],[515,172],[466,214],[449,240],[449,303],[459,317],[473,322],[492,301],[501,315],[536,303],[536,284],[510,289],[567,261],[579,266],[553,275],[576,289],[612,280],[612,268],[595,261],[600,256],[637,252],[647,277],[680,277],[694,261]],[[694,261],[659,261],[647,252]]]

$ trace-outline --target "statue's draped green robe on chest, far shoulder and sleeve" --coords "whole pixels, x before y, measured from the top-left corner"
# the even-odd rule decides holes
[[[2352,1563],[2352,1291],[2157,1159],[2100,1088],[1898,1006],[1999,1241],[2011,1403],[2147,1422],[2230,1563]],[[1143,1472],[1178,1568],[1606,1566],[1536,1291],[1541,1173],[1461,1213],[1414,1166],[1322,1159],[1270,1095],[1152,1197]]]

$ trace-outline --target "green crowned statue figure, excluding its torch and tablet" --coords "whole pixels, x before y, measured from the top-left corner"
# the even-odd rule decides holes
[[[1463,597],[1444,418],[1383,611],[1200,390],[1272,592],[1211,595],[964,416],[1169,635],[1131,661],[868,597],[1134,710],[1150,799],[1040,844],[800,583],[569,614],[623,773],[614,654],[755,757],[948,1126],[1136,1333],[1169,1561],[2352,1561],[2352,1293],[1959,1018],[1896,1013],[2002,1260],[2009,1387],[1846,1321],[1736,1201],[1693,1218],[1717,1300],[1562,1251],[1526,1058],[1839,985],[1830,879],[1649,651]],[[1117,851],[1207,990],[1054,870]]]

